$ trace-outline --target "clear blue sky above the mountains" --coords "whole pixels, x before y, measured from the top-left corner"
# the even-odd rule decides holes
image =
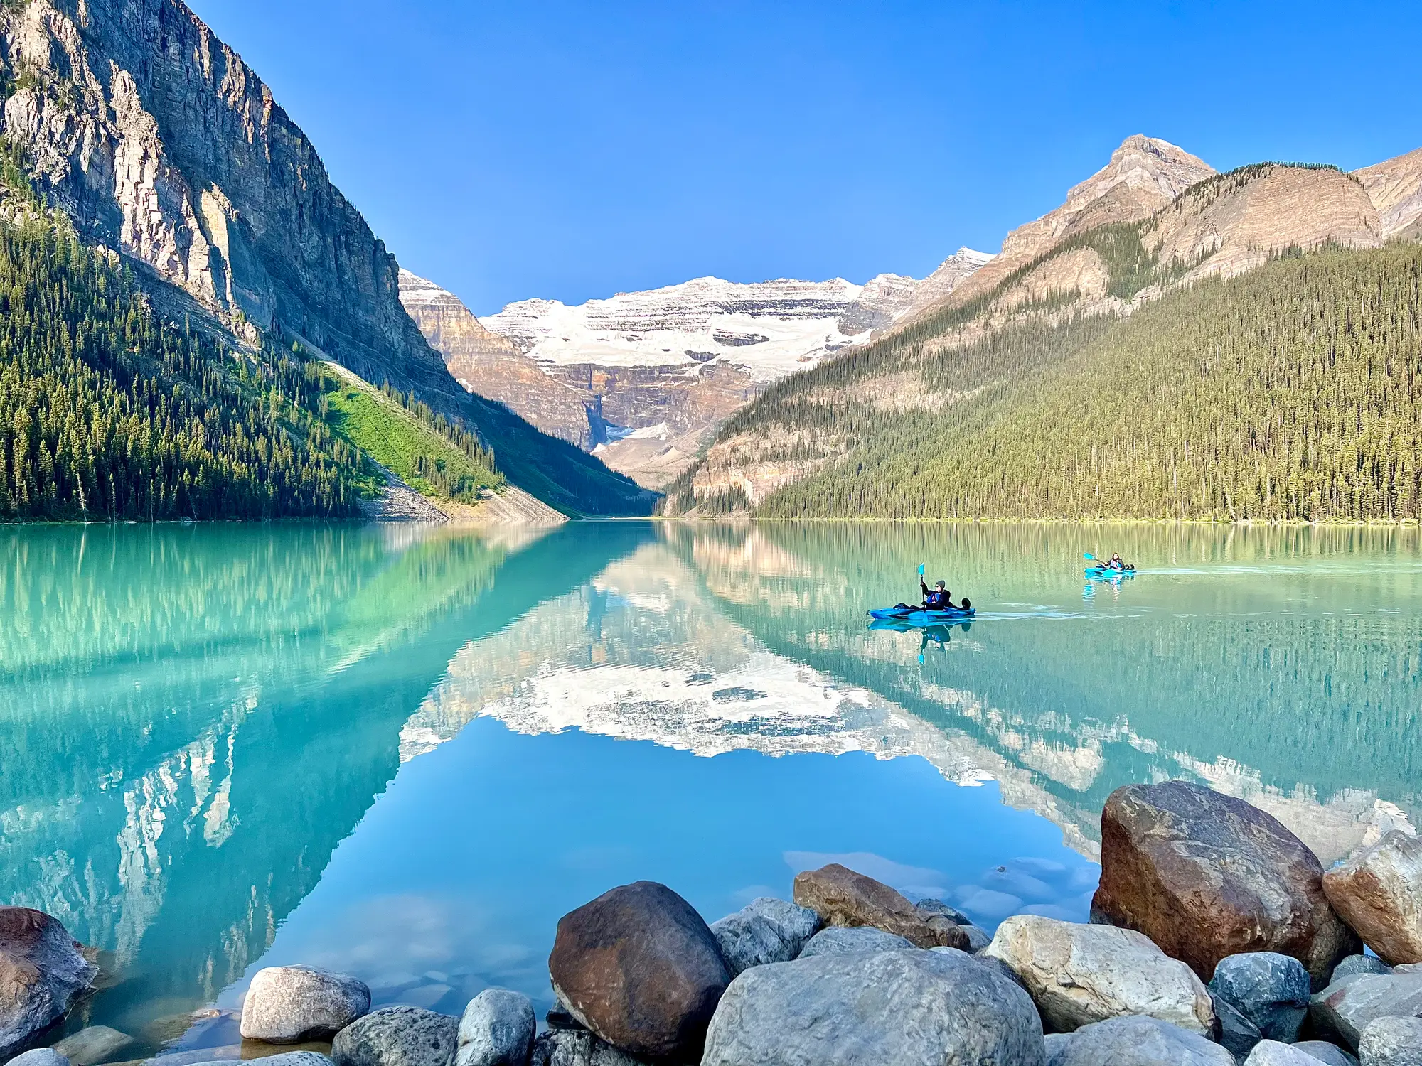
[[[1135,132],[1220,169],[1422,145],[1412,3],[189,3],[481,314],[921,277]]]

